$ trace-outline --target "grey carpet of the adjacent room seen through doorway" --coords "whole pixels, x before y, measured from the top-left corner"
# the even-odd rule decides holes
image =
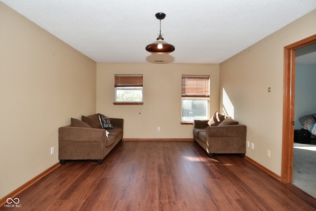
[[[294,143],[293,185],[316,198],[316,144]]]

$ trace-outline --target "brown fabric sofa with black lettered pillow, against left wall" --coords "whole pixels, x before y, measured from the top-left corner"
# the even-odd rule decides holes
[[[99,115],[82,116],[85,122],[72,118],[72,125],[59,128],[60,164],[67,160],[97,160],[101,165],[105,156],[122,140],[124,120],[109,118],[113,128],[103,129]]]

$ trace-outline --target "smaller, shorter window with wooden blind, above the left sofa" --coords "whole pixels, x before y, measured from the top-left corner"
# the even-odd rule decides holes
[[[143,103],[143,75],[115,75],[114,104]]]

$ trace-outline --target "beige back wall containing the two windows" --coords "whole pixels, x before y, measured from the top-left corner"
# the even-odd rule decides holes
[[[143,74],[144,105],[113,105],[114,74]],[[123,139],[193,138],[193,126],[180,124],[181,75],[186,74],[210,75],[210,113],[217,111],[219,65],[97,63],[97,112],[124,119]]]

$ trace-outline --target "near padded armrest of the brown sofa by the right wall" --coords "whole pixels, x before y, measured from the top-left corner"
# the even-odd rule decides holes
[[[246,137],[245,125],[206,127],[206,136],[209,137]]]

